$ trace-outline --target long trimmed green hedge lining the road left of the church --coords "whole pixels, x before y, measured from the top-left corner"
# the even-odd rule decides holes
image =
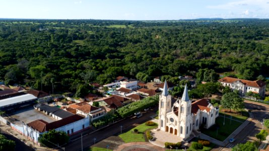
[[[119,108],[116,111],[122,118],[125,118],[127,116],[133,115],[136,112],[142,111],[158,103],[159,103],[159,96],[153,96],[123,106],[122,108]]]

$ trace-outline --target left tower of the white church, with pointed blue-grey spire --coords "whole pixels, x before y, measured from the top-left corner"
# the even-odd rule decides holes
[[[171,112],[171,95],[168,93],[168,85],[165,80],[163,92],[159,99],[159,129],[166,131],[166,114]]]

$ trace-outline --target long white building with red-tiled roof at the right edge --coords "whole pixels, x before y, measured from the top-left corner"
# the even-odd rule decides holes
[[[238,90],[240,95],[245,96],[248,92],[259,94],[261,97],[265,95],[266,83],[261,80],[249,81],[231,77],[224,77],[218,80],[224,87],[232,90]]]

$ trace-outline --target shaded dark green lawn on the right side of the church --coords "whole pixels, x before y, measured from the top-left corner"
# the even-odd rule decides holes
[[[217,128],[211,127],[209,129],[203,128],[201,129],[201,132],[209,135],[215,139],[218,139],[220,141],[225,140],[233,131],[236,130],[237,127],[239,127],[242,122],[234,121],[232,120],[230,122],[230,118],[225,118],[225,125],[223,125],[224,117],[217,117],[216,118],[216,124],[219,125],[218,129],[218,135],[217,135]]]

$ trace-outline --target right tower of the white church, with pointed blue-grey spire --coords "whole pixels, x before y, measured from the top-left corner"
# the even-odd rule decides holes
[[[188,96],[187,84],[179,101],[179,136],[182,138],[188,138],[192,131],[192,114],[191,114],[191,101]]]

